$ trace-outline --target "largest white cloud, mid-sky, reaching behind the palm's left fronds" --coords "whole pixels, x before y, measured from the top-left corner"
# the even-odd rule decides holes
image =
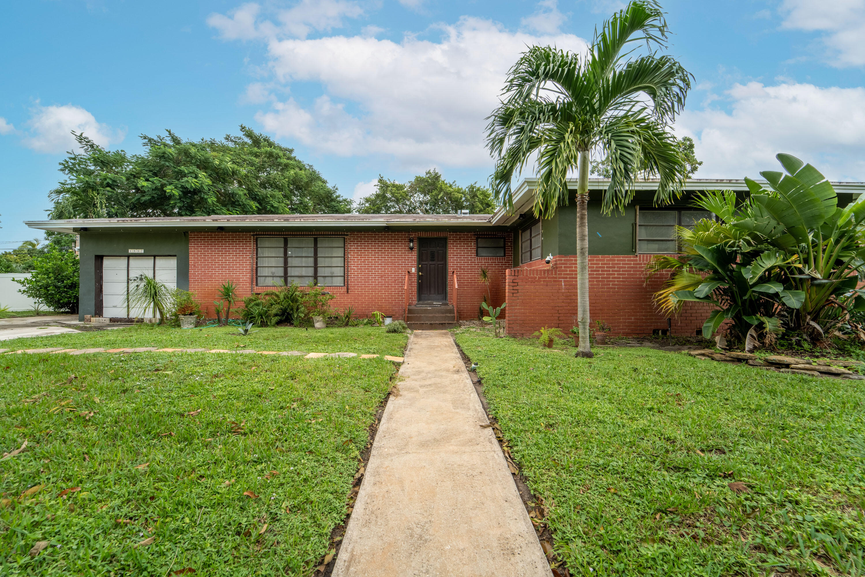
[[[276,82],[320,84],[311,105],[296,99],[259,112],[265,130],[339,156],[389,155],[406,168],[482,166],[484,118],[498,104],[505,74],[533,44],[583,51],[574,35],[510,32],[464,17],[442,25],[439,42],[363,36],[272,40]]]

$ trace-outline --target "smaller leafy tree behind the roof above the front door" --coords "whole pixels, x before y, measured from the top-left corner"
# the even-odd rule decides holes
[[[397,183],[379,176],[375,193],[363,198],[357,212],[362,215],[453,215],[468,209],[473,215],[496,210],[490,189],[473,183],[463,188],[448,183],[438,170],[427,170],[409,183]]]

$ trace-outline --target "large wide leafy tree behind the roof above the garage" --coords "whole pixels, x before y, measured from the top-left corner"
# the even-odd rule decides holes
[[[351,201],[292,149],[246,126],[241,136],[142,135],[144,153],[106,151],[83,133],[49,193],[52,218],[345,213]]]

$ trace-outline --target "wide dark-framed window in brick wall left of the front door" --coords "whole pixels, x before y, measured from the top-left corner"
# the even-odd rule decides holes
[[[259,236],[256,286],[345,285],[342,236]]]

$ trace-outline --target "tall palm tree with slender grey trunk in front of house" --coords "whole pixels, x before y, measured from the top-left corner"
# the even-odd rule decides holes
[[[487,147],[497,159],[490,182],[500,204],[513,206],[512,178],[536,162],[535,215],[549,218],[569,201],[567,175],[577,171],[577,356],[592,356],[586,213],[590,153],[610,161],[606,214],[631,202],[637,178],[659,178],[655,200],[663,203],[679,195],[687,174],[668,128],[685,104],[692,76],[678,61],[657,53],[666,48],[667,35],[660,6],[643,0],[618,11],[600,33],[596,29],[586,54],[530,48],[509,70],[501,106],[489,117]],[[625,49],[634,42],[644,42],[646,54]]]

